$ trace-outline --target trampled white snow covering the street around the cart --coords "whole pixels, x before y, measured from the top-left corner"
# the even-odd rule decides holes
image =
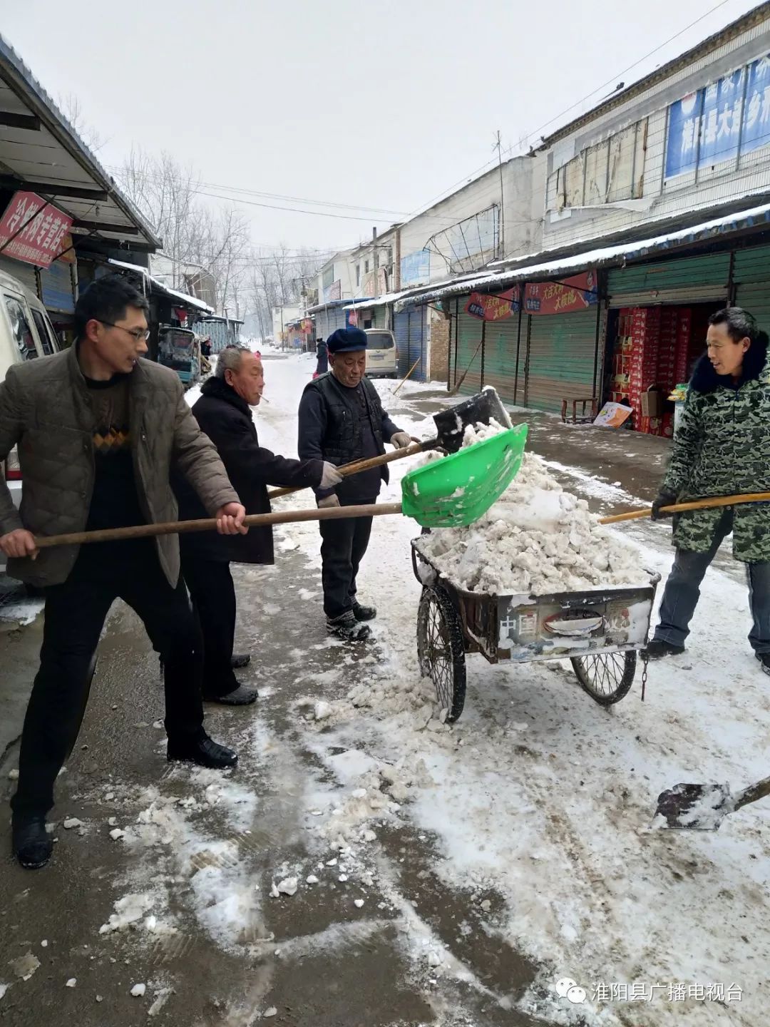
[[[263,446],[296,455],[297,408],[314,367],[312,354],[266,363],[269,404],[255,412]],[[377,385],[386,409],[399,427],[429,435],[432,420],[410,414],[425,386],[407,383],[393,396],[395,384]],[[409,466],[414,460],[390,464],[381,501],[400,498]],[[593,494],[591,482],[573,477],[581,496]],[[280,504],[300,508],[313,499],[300,493]],[[375,521],[359,575],[361,598],[379,610],[371,652],[354,664],[334,640],[317,647],[337,654],[316,682],[325,702],[299,686],[292,738],[269,726],[261,706],[243,719],[238,748],[248,760],[237,776],[180,768],[141,794],[116,786],[101,797],[131,811],[115,819],[123,832],[115,844],[136,858],[105,935],[131,931],[137,943],[167,944],[184,937],[192,915],[215,945],[259,956],[277,944],[265,926],[266,904],[296,901],[287,880],[297,879],[300,895],[320,882],[349,889],[351,912],[363,919],[281,942],[283,956],[344,948],[376,935],[381,916],[396,915],[417,981],[465,981],[505,1009],[508,997],[436,937],[384,858],[379,842],[401,827],[431,846],[430,873],[470,897],[486,935],[542,967],[522,1009],[600,1027],[765,1022],[770,810],[748,806],[718,833],[651,829],[664,788],[718,781],[736,790],[767,773],[770,699],[745,642],[744,587],[709,572],[689,652],[650,668],[644,703],[639,680],[608,711],[579,689],[568,662],[493,667],[476,654],[467,658],[465,711],[450,726],[438,717],[432,684],[419,676],[420,585],[410,554],[418,535],[406,518]],[[655,549],[622,537],[643,566],[667,572],[665,528]],[[276,542],[318,565],[316,524],[285,526]],[[257,593],[272,573],[247,568],[243,580]],[[308,586],[306,596],[314,595],[317,579]],[[257,615],[257,602],[241,595],[241,616]],[[272,612],[280,615],[277,606]],[[260,608],[259,615],[272,614]],[[293,673],[301,680],[307,661],[305,651],[287,652],[283,667],[265,674],[262,702],[272,680]],[[365,683],[351,687],[345,682],[354,665],[354,680]],[[308,764],[298,763],[298,739],[312,756]],[[271,795],[291,803],[271,811]],[[241,857],[266,845],[305,854],[255,882]],[[572,999],[563,982],[575,982]],[[637,1000],[620,1001],[618,989],[631,985]]]

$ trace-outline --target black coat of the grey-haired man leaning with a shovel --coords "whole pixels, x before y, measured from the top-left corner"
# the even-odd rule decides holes
[[[217,447],[246,514],[270,512],[269,485],[316,488],[320,483],[322,460],[288,460],[260,446],[251,407],[221,378],[206,381],[192,412],[201,430]],[[181,477],[175,478],[175,489],[183,520],[206,516],[197,496]],[[312,496],[308,498],[311,500]],[[247,535],[218,535],[206,531],[180,538],[183,558],[217,563],[273,563],[270,527],[251,528]]]

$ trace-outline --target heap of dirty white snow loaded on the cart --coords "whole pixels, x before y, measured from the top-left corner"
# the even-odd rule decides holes
[[[477,425],[464,446],[504,430]],[[543,461],[526,453],[511,485],[468,528],[438,528],[419,541],[445,577],[468,592],[544,596],[646,582],[639,554],[602,528],[583,499],[565,492]]]

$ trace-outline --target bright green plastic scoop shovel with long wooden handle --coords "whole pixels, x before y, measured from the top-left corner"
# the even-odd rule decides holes
[[[346,518],[405,514],[426,528],[465,527],[486,514],[513,481],[522,465],[526,442],[527,425],[519,424],[468,446],[445,460],[418,467],[403,476],[402,503],[251,514],[243,523],[248,527],[264,527],[301,521],[340,521]],[[47,549],[54,545],[83,545],[88,542],[114,542],[157,535],[182,535],[213,531],[216,528],[215,518],[169,521],[165,524],[142,524],[128,528],[75,531],[68,535],[43,535],[35,538],[35,544],[39,549]]]

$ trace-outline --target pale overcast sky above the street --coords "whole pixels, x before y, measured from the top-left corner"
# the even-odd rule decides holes
[[[78,96],[108,168],[131,144],[167,149],[207,192],[280,194],[297,199],[241,196],[346,215],[242,206],[256,245],[329,251],[472,177],[493,158],[497,129],[506,149],[536,140],[753,6],[6,0],[1,31],[51,96]]]

